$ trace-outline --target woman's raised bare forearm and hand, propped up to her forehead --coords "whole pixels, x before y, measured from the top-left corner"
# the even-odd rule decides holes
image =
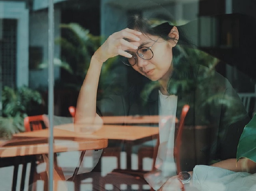
[[[138,37],[140,35],[140,32],[128,28],[116,32],[110,35],[103,45],[94,53],[77,99],[74,123],[95,123],[95,120],[97,120],[96,117],[98,117],[96,114],[96,96],[103,63],[107,59],[117,55],[131,57],[132,55],[125,52],[125,50],[137,50],[139,46],[139,42],[137,41],[140,40]],[[132,42],[124,38],[130,39]]]

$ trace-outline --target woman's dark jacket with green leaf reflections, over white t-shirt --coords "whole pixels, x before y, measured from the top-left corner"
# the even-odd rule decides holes
[[[198,67],[196,77],[195,88],[178,95],[177,119],[183,106],[190,106],[180,150],[182,171],[191,171],[197,164],[236,158],[239,138],[250,121],[227,79],[203,66]],[[123,91],[98,101],[97,112],[102,116],[158,115],[158,96],[157,88],[147,97]],[[177,125],[175,139],[176,130]]]

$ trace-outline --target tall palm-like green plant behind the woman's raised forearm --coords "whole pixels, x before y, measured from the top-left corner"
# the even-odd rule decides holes
[[[62,36],[55,39],[61,46],[61,60],[56,59],[55,65],[60,66],[69,77],[61,78],[55,84],[59,87],[80,90],[89,68],[91,56],[100,47],[103,37],[90,34],[88,29],[78,23],[61,24]],[[106,60],[102,66],[99,89],[113,83],[116,73],[110,71],[116,64],[116,57]],[[40,67],[47,67],[41,65]]]

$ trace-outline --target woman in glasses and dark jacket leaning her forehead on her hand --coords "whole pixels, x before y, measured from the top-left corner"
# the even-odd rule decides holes
[[[192,131],[195,136],[191,140],[182,140],[182,150],[186,153],[180,161],[182,171],[189,171],[192,176],[196,164],[207,164],[236,172],[244,171],[241,165],[243,160],[239,160],[236,165],[236,148],[243,127],[250,119],[239,98],[233,97],[234,91],[230,84],[227,85],[226,79],[216,72],[194,64],[195,59],[189,55],[187,48],[191,46],[177,27],[167,22],[151,27],[147,20],[136,15],[129,28],[110,35],[94,53],[77,100],[75,124],[102,123],[99,115],[104,113],[124,116],[159,115],[160,145],[156,166],[160,175],[158,181],[152,180],[150,175],[146,177],[155,190],[184,188],[176,175],[173,151],[176,118],[160,124],[161,116],[180,118],[184,104],[190,105],[186,116],[187,125],[208,124],[214,128],[212,136],[206,137],[210,139],[208,144],[193,148],[190,153],[190,146],[197,144],[196,130]],[[105,99],[108,101],[96,104],[101,67],[107,59],[118,55],[121,56],[120,62],[141,75],[136,78],[134,74],[129,78],[128,81],[134,82],[130,91],[114,94],[111,99]],[[205,71],[209,75],[202,80]],[[201,73],[204,75],[200,75]],[[155,82],[154,88],[147,91],[152,82]],[[223,100],[232,98],[232,103],[236,105],[206,102],[213,93]],[[199,155],[195,156],[195,153]],[[247,162],[249,168],[250,165],[254,164]]]

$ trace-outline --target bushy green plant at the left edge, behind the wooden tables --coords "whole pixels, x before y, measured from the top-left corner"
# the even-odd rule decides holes
[[[28,115],[34,115],[42,104],[38,91],[28,87],[16,90],[5,86],[2,91],[2,116],[0,117],[0,137],[8,138],[14,133],[24,131],[23,121]]]

